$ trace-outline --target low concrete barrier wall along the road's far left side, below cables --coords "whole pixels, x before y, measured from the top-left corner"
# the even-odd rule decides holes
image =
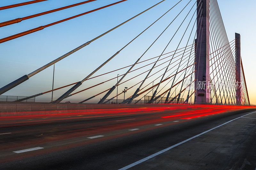
[[[0,117],[33,115],[79,114],[97,110],[122,108],[161,107],[162,104],[83,104],[83,103],[34,103],[0,102]]]

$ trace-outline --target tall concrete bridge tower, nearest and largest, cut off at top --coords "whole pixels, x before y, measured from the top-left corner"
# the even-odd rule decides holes
[[[204,104],[210,103],[210,69],[209,69],[209,54],[210,54],[210,12],[209,0],[197,0],[197,5],[201,5],[202,9],[197,9],[198,15],[197,24],[201,24],[197,28],[197,44],[196,44],[196,67],[195,67],[195,103]]]

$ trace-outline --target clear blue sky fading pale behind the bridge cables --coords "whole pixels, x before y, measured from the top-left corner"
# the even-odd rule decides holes
[[[0,1],[0,6],[21,2],[24,1]],[[78,2],[82,2],[82,0],[73,0],[72,3],[70,3],[68,0],[49,0],[37,4],[30,4],[2,10],[0,11],[0,22],[25,17]],[[41,25],[46,25],[60,19],[68,18],[70,16],[77,15],[85,11],[90,11],[92,9],[99,8],[114,2],[117,2],[117,0],[98,0],[63,11],[24,20],[21,23],[0,28],[0,38],[27,31]],[[81,44],[95,38],[101,33],[108,31],[126,19],[133,17],[141,11],[144,11],[157,2],[159,1],[128,0],[121,4],[117,4],[79,18],[47,27],[42,31],[0,44],[0,72],[2,73],[0,86],[2,87],[22,75],[29,74],[35,69],[56,59],[57,57],[60,57],[68,51],[76,48],[77,46],[80,46]],[[68,58],[58,62],[55,65],[54,87],[57,88],[76,81],[81,81],[86,75],[92,72],[92,70],[94,70],[102,62],[116,53],[116,51],[118,51],[131,39],[137,36],[148,25],[154,22],[177,2],[178,1],[166,0],[145,14],[142,14],[138,18],[133,19],[131,22],[126,23],[115,31],[110,32],[106,36],[94,41],[89,46],[84,47],[78,52],[70,55]],[[156,39],[160,32],[163,31],[163,29],[170,23],[174,16],[177,15],[180,9],[184,7],[187,2],[188,0],[183,0],[177,6],[177,8],[174,8],[170,13],[168,13],[168,15],[157,22],[156,25],[150,28],[138,39],[136,39],[136,41],[125,48],[106,66],[102,67],[102,69],[100,69],[99,72],[97,72],[95,75],[99,75],[101,73],[132,64],[148,48],[152,41]],[[235,32],[241,34],[242,60],[245,69],[249,96],[251,103],[256,104],[256,90],[254,89],[254,63],[256,62],[256,59],[254,57],[255,48],[252,47],[255,41],[255,34],[253,33],[255,28],[255,10],[253,8],[255,7],[256,2],[253,0],[248,0],[246,3],[241,3],[241,1],[238,0],[219,0],[218,2],[224,25],[228,34],[228,39],[233,40],[235,37]],[[188,6],[188,10],[191,7],[192,3],[190,6]],[[192,13],[193,12],[194,10],[192,10]],[[152,49],[146,53],[146,55],[143,57],[144,59],[157,56],[162,52],[163,47],[167,44],[173,32],[176,31],[177,25],[179,25],[179,23],[182,21],[182,18],[184,18],[186,14],[187,12],[184,12],[180,15],[179,18],[177,18],[177,21],[173,23],[173,25],[176,26],[171,26],[163,34],[163,36],[156,42],[156,44],[152,46]],[[188,19],[191,17],[192,15],[188,16]],[[186,22],[188,23],[188,20]],[[180,30],[185,30],[185,28],[186,25],[184,25]],[[178,32],[177,36],[174,37],[173,45],[171,44],[168,47],[167,52],[172,51],[177,47],[177,42],[181,36],[182,31]],[[185,41],[182,42],[181,47],[185,46],[185,44]],[[31,77],[28,81],[4,93],[4,95],[30,96],[50,90],[52,88],[52,70],[53,67],[45,69],[39,74]],[[83,85],[77,89],[77,91],[90,87],[103,80],[112,78],[116,74],[123,74],[125,71],[126,70],[122,70],[120,72],[102,76],[98,79],[85,81]],[[132,75],[136,74],[131,74],[130,78]],[[138,79],[134,79],[132,82],[127,83],[124,86],[132,86],[134,82],[141,80],[142,78],[143,76],[138,77]],[[129,76],[125,80],[128,79]],[[68,100],[79,102],[85,98],[97,94],[98,92],[112,87],[115,82],[116,80],[110,81],[97,88],[93,88],[79,95],[72,96]],[[119,89],[122,90],[122,88],[123,87],[120,86]],[[63,90],[54,92],[54,98],[58,98],[68,89],[69,88],[65,88]],[[127,95],[131,95],[134,90],[128,92]],[[102,97],[102,95],[98,98],[95,98],[95,101],[98,101],[100,97]],[[50,101],[50,99],[50,93],[36,98],[37,101]],[[94,100],[91,102],[94,102]]]

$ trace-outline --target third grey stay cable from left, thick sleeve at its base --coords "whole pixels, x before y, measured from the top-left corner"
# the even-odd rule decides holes
[[[188,4],[191,2],[191,0],[188,2]],[[180,11],[180,13],[188,6],[188,4]],[[180,15],[180,13],[172,20],[172,22]],[[172,22],[164,29],[164,31],[156,38],[156,40],[148,47],[148,49],[140,56],[138,60],[135,61],[135,63],[130,67],[127,72],[122,76],[122,78],[103,96],[103,98],[98,102],[98,104],[101,104],[104,102],[104,100],[112,93],[114,89],[116,89],[116,86],[124,79],[124,77],[132,70],[132,68],[139,62],[139,60],[144,56],[145,53],[153,46],[153,44],[157,41],[157,39],[167,30],[167,28],[172,24]]]

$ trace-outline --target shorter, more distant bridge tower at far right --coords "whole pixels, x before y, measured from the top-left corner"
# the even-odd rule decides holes
[[[236,37],[236,104],[241,104],[241,40],[240,34],[235,33]]]

